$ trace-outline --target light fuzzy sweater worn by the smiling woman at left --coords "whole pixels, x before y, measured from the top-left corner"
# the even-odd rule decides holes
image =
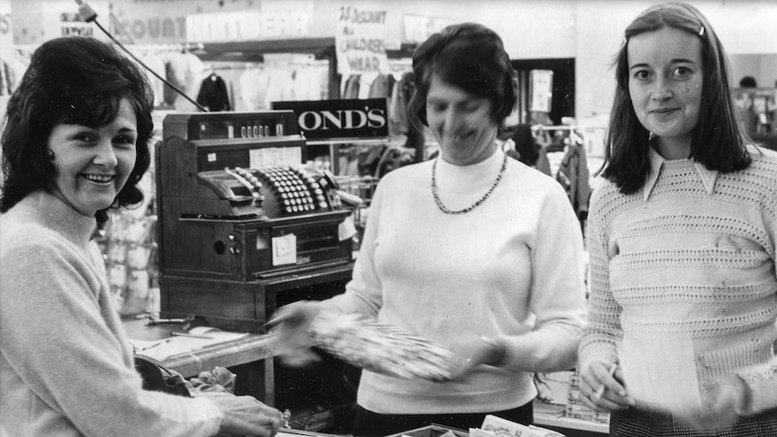
[[[142,390],[95,228],[43,191],[0,215],[0,435],[215,435],[211,401]]]

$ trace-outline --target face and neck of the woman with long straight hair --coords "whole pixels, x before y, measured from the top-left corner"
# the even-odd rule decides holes
[[[628,41],[628,71],[636,117],[658,137],[659,151],[665,158],[688,157],[701,110],[699,38],[672,27],[635,35]]]

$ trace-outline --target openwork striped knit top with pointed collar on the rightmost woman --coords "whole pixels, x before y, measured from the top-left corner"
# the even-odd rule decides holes
[[[605,182],[591,199],[581,368],[620,360],[637,404],[674,414],[736,376],[752,396],[742,414],[774,408],[777,154],[753,149],[749,168],[718,174],[651,152],[641,190]]]

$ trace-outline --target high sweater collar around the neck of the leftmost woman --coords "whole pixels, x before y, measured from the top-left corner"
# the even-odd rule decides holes
[[[70,205],[44,190],[27,195],[14,208],[18,206],[32,208],[35,220],[80,244],[85,244],[91,240],[97,228],[95,217],[79,213]]]

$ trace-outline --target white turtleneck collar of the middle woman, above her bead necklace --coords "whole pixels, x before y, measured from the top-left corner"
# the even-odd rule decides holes
[[[493,185],[505,152],[497,149],[489,158],[469,166],[455,166],[437,157],[437,187],[445,191],[468,192]]]

